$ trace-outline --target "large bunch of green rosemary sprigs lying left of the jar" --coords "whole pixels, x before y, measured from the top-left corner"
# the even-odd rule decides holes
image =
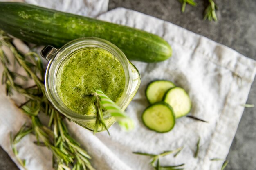
[[[13,152],[17,155],[18,151],[15,144],[25,136],[28,132],[36,135],[37,144],[47,146],[53,154],[53,167],[58,170],[94,170],[90,163],[90,156],[83,150],[68,133],[65,125],[64,117],[59,113],[47,100],[45,96],[44,73],[40,57],[35,52],[27,54],[20,53],[12,44],[12,38],[4,31],[0,30],[0,61],[3,67],[2,84],[6,85],[7,95],[11,96],[13,91],[25,96],[27,102],[20,105],[23,113],[31,118],[32,130],[25,130],[23,127],[20,132],[12,139],[11,145]],[[11,71],[11,63],[6,54],[2,50],[2,46],[6,46],[12,52],[14,61],[26,72],[26,76]],[[20,78],[26,81],[31,79],[34,86],[23,87],[18,84],[16,79]],[[48,127],[43,126],[38,118],[38,114],[45,113],[49,116]],[[18,161],[24,166],[22,160]]]

